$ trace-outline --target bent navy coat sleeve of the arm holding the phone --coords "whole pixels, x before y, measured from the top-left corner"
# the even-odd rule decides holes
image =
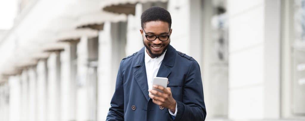
[[[199,64],[194,61],[188,70],[183,85],[182,102],[177,101],[177,116],[174,121],[204,121],[206,107]]]

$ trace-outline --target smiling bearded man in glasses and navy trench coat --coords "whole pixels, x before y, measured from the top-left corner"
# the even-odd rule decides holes
[[[142,13],[141,26],[145,47],[121,61],[106,120],[203,121],[206,109],[199,65],[170,45],[170,13],[151,7]],[[154,77],[168,78],[167,88],[152,85]]]

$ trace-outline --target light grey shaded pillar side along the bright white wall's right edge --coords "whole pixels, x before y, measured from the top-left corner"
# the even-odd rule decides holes
[[[264,118],[280,118],[281,0],[265,0]]]

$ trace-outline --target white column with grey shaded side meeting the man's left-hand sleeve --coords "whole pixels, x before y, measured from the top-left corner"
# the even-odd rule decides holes
[[[125,43],[126,23],[106,22],[99,32],[98,120],[106,120]]]

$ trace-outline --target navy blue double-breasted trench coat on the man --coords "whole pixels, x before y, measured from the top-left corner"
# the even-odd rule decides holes
[[[204,121],[206,108],[198,63],[192,57],[168,46],[157,77],[167,77],[177,116],[149,98],[144,62],[145,47],[124,58],[117,74],[115,92],[106,121]]]

